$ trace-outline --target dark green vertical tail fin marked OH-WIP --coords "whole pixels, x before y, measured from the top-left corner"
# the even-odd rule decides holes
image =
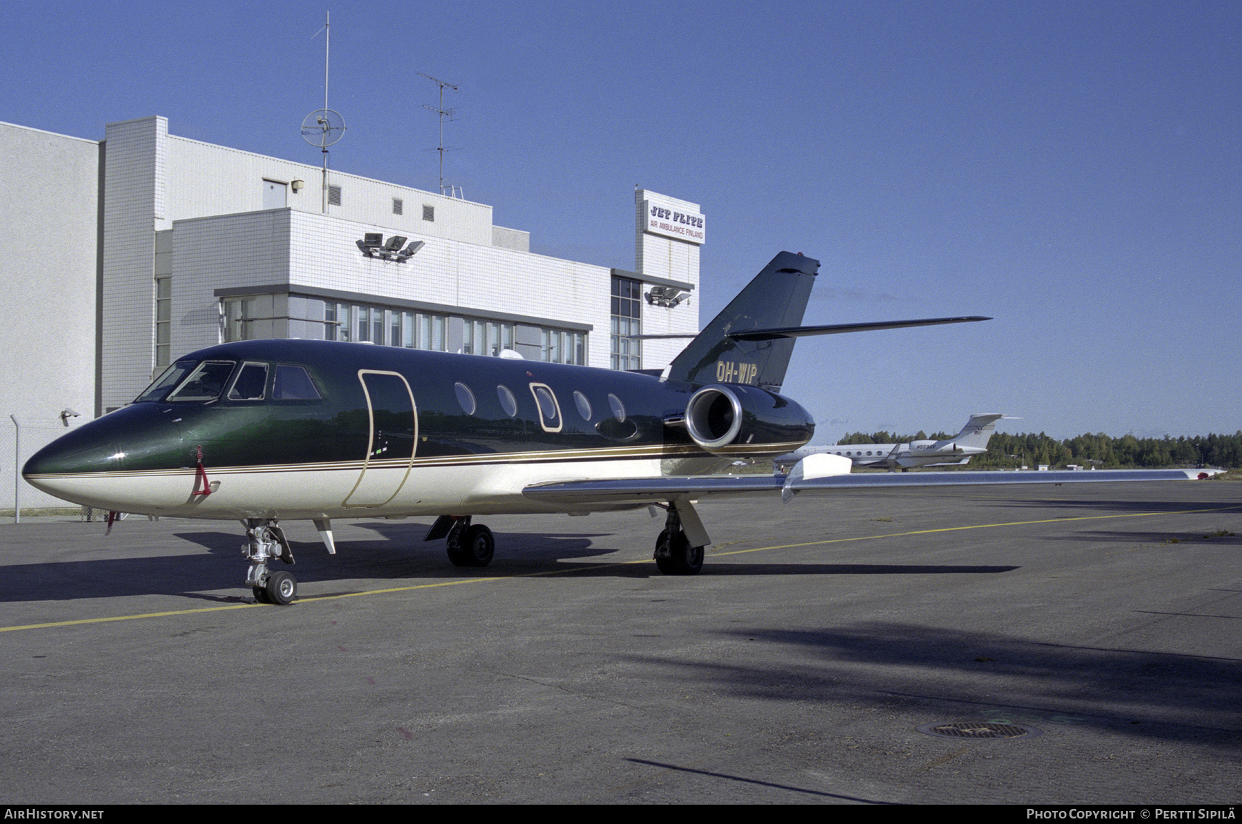
[[[820,261],[780,252],[703,327],[668,367],[668,379],[744,383],[773,391],[785,382],[794,338],[743,339],[739,333],[797,327]]]

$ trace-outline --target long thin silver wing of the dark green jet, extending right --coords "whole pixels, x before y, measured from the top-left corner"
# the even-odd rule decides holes
[[[789,500],[800,492],[924,486],[994,486],[1004,483],[1115,483],[1125,481],[1192,481],[1215,470],[1063,470],[1047,472],[850,472],[807,477],[790,475],[703,475],[638,478],[594,478],[534,483],[522,493],[544,503],[655,503],[671,500],[780,492]]]

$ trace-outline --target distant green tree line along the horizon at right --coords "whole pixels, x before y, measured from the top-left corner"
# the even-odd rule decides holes
[[[912,440],[946,440],[953,434],[894,435],[893,433],[851,433],[841,444],[908,444]],[[971,459],[969,469],[1017,469],[1047,464],[1119,467],[1218,466],[1242,467],[1242,431],[1232,435],[1195,435],[1191,437],[1112,437],[1103,433],[1056,440],[1038,435],[994,433],[987,451]]]

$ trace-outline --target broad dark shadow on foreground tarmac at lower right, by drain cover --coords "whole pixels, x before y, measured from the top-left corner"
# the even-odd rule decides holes
[[[1242,747],[1237,657],[1049,644],[884,621],[712,631],[769,650],[785,646],[790,654],[745,656],[748,662],[630,657],[662,665],[669,684],[748,698],[884,705],[925,712],[929,721],[1071,725],[1199,743],[1230,758]]]

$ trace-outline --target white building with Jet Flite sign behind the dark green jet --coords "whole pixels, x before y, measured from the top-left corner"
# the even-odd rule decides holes
[[[698,204],[635,193],[633,271],[530,252],[492,208],[211,145],[168,119],[87,140],[0,123],[0,510],[55,506],[17,469],[171,360],[318,338],[661,369],[698,331]],[[689,298],[689,300],[687,300]],[[9,498],[7,501],[5,498]]]

